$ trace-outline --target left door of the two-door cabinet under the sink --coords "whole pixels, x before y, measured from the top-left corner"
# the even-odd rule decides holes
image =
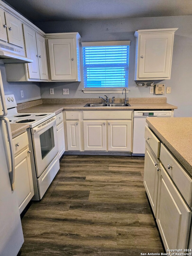
[[[106,121],[83,121],[84,150],[107,150]]]

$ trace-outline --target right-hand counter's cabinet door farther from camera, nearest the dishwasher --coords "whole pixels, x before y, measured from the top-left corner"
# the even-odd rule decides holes
[[[145,164],[144,164],[144,186],[149,198],[154,216],[156,218],[157,210],[157,192],[158,192],[158,166],[159,160],[152,152],[149,144],[145,143]]]

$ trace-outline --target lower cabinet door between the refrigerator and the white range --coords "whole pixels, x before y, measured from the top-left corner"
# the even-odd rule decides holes
[[[15,157],[15,191],[21,214],[34,196],[29,148]]]

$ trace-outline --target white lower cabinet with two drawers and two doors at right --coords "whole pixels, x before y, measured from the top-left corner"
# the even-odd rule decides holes
[[[190,249],[192,179],[147,127],[145,138],[144,186],[164,247]]]

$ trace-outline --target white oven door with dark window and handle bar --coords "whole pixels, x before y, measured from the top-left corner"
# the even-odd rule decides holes
[[[37,177],[58,153],[56,119],[52,117],[31,129]]]

